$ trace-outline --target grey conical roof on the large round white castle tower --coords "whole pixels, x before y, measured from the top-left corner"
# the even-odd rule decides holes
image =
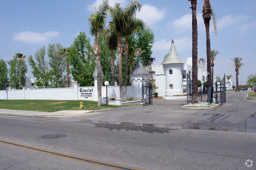
[[[170,52],[167,55],[165,55],[161,64],[173,64],[173,63],[182,63],[182,64],[184,64],[180,60],[180,58],[177,54],[176,48],[174,46],[174,41],[172,40]]]

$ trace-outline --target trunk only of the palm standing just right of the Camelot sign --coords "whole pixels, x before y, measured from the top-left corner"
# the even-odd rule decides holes
[[[98,87],[98,106],[102,106],[102,95],[101,95],[101,86],[102,86],[102,77],[101,77],[101,65],[100,65],[100,44],[98,43],[98,37],[95,35],[95,43],[93,52],[96,56],[96,68],[97,68],[97,87]]]

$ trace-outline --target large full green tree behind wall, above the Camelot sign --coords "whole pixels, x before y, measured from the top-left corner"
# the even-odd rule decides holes
[[[80,83],[81,86],[93,86],[95,55],[93,55],[90,38],[87,38],[84,32],[80,32],[73,44],[71,44],[68,57],[70,73],[73,75],[73,79]]]

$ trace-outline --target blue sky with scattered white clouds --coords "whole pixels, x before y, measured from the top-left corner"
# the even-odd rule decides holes
[[[4,0],[0,5],[0,59],[11,60],[15,53],[35,54],[43,45],[60,43],[69,47],[80,31],[89,34],[88,18],[101,0]],[[128,0],[109,0],[122,7]],[[136,17],[147,23],[155,35],[152,65],[161,64],[174,40],[182,62],[192,57],[191,2],[188,0],[139,0],[141,11]],[[244,66],[239,70],[239,84],[246,84],[247,76],[256,73],[256,0],[210,0],[217,20],[217,34],[210,23],[211,49],[220,53],[214,61],[214,78],[236,72],[230,58],[242,57]],[[202,20],[203,0],[197,1],[198,58],[206,58],[206,33]],[[110,20],[110,16],[108,18]],[[28,62],[27,62],[28,65]],[[9,67],[9,66],[8,66]],[[206,68],[206,65],[205,65]],[[26,76],[33,78],[28,65]]]

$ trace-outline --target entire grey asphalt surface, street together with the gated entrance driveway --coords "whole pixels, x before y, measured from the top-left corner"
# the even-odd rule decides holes
[[[0,168],[256,169],[255,100],[227,91],[220,107],[189,110],[184,102],[60,119],[0,115]]]

